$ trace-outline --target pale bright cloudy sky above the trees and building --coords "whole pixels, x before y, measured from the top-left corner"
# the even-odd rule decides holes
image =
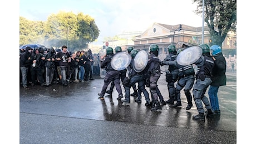
[[[193,0],[20,0],[19,16],[46,21],[50,14],[60,11],[88,14],[95,19],[100,29],[98,42],[95,44],[102,44],[104,37],[127,31],[144,32],[154,22],[201,27],[202,18],[193,12],[196,5],[192,2]]]

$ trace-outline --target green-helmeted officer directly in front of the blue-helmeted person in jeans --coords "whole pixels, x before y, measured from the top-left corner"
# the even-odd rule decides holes
[[[214,66],[213,58],[210,56],[210,49],[207,44],[201,44],[201,49],[203,49],[203,54],[195,62],[198,66],[198,71],[196,72],[196,82],[193,88],[193,97],[196,105],[196,109],[199,114],[193,116],[193,120],[205,120],[204,108],[202,101],[207,109],[207,117],[213,116],[214,112],[211,110],[211,105],[208,98],[205,96],[205,91],[211,84],[211,71]]]

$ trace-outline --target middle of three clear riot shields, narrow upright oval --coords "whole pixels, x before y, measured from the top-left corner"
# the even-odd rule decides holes
[[[147,60],[149,59],[149,55],[145,50],[140,50],[134,58],[134,63],[132,63],[132,67],[137,73],[140,73],[147,66]]]

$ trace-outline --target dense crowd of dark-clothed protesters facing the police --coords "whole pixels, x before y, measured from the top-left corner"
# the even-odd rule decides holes
[[[23,88],[53,83],[67,86],[93,80],[93,75],[100,75],[99,54],[92,54],[91,49],[68,52],[66,45],[61,49],[19,49],[19,68],[19,81]]]

